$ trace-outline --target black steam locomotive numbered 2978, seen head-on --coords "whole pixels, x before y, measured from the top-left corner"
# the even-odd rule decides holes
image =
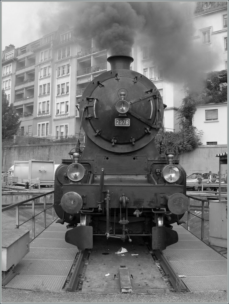
[[[55,211],[65,241],[92,248],[93,236],[132,241],[150,236],[152,249],[178,241],[188,207],[186,173],[174,149],[159,154],[154,138],[164,108],[156,86],[130,70],[133,58],[107,58],[111,71],[91,81],[80,101],[85,147],[78,143],[55,172]],[[71,159],[70,159],[71,158]]]

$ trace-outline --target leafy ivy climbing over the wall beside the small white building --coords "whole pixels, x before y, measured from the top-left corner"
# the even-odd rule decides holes
[[[155,143],[160,152],[163,151],[161,147],[164,138],[166,138],[167,147],[175,148],[178,154],[192,151],[202,144],[203,131],[197,130],[192,125],[196,105],[227,101],[227,70],[196,75],[196,78],[189,82],[185,90],[187,95],[182,99],[181,106],[177,111],[180,131],[165,132],[165,134],[160,131],[158,133]]]

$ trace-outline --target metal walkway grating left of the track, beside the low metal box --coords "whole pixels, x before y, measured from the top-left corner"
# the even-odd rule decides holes
[[[66,226],[53,222],[30,242],[30,252],[15,267],[11,288],[60,291],[71,270],[77,247],[65,242]]]

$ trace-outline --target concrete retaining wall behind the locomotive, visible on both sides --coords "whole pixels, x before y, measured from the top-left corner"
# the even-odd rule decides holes
[[[2,147],[2,171],[9,170],[13,161],[53,160],[55,164],[61,164],[62,159],[70,159],[68,153],[75,147],[75,143]],[[219,157],[215,157],[215,155],[224,152],[227,152],[227,145],[202,145],[194,151],[181,154],[180,164],[188,175],[193,172],[209,172],[210,170],[217,173],[219,171]]]

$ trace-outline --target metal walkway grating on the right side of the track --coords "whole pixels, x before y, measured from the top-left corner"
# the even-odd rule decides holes
[[[173,227],[178,243],[163,250],[191,292],[227,290],[227,259],[182,226]]]

